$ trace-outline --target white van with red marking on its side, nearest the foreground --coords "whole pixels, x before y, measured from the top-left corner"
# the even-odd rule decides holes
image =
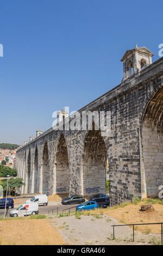
[[[36,215],[39,213],[38,204],[29,203],[22,204],[17,209],[10,211],[10,217],[24,217],[28,215]]]

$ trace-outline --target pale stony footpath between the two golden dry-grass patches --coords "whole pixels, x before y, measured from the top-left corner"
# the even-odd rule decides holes
[[[115,240],[112,240],[111,225],[122,224],[108,215],[84,216],[78,219],[74,216],[49,219],[52,227],[57,228],[66,245],[147,245],[148,241],[156,236],[145,235],[130,227],[115,227]]]

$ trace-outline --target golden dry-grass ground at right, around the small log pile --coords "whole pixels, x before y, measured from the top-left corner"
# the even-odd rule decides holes
[[[143,203],[137,205],[129,204],[124,206],[124,208],[118,209],[106,209],[104,210],[105,214],[116,218],[122,224],[130,223],[156,223],[163,222],[163,205],[153,204],[155,211],[140,211],[140,206]],[[160,234],[161,225],[139,225],[136,227],[136,230],[142,233],[155,233]]]

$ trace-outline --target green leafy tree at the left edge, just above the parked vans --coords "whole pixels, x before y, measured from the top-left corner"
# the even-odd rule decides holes
[[[6,191],[7,191],[7,182],[8,180],[7,179],[3,179],[1,180],[1,185],[3,187],[3,192],[4,192],[4,195],[6,194]],[[25,183],[23,182],[23,179],[22,178],[10,178],[9,179],[9,184],[8,184],[8,188],[9,188],[9,193],[12,195],[12,196],[15,196],[16,194],[16,188],[20,188],[22,187],[23,185],[25,185]]]

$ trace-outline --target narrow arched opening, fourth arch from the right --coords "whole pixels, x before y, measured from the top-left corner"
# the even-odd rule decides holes
[[[49,181],[49,157],[47,142],[43,148],[42,157],[42,193],[48,194],[48,181]]]

